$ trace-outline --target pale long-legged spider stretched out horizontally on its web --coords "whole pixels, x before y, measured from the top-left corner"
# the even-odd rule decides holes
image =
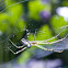
[[[60,34],[60,33],[59,33]],[[59,35],[58,34],[58,35]],[[65,36],[65,37],[63,37],[63,38],[60,38],[60,39],[58,39],[58,41],[55,41],[55,42],[48,42],[49,39],[53,39],[53,38],[56,38],[58,35],[56,35],[56,36],[54,36],[54,37],[52,37],[52,38],[48,38],[48,39],[45,39],[45,41],[27,41],[27,39],[25,39],[25,38],[22,38],[21,39],[21,42],[22,42],[22,46],[16,46],[11,39],[9,39],[10,41],[10,43],[13,45],[13,46],[15,46],[16,48],[21,48],[21,50],[18,50],[18,52],[13,52],[12,49],[10,49],[10,52],[12,52],[13,54],[19,54],[19,53],[21,53],[21,52],[23,52],[24,49],[26,49],[26,48],[30,48],[31,46],[36,46],[36,47],[38,47],[38,48],[41,48],[41,49],[44,49],[44,50],[49,50],[49,52],[57,52],[57,53],[61,53],[64,49],[61,49],[61,50],[55,50],[55,48],[53,48],[53,49],[47,49],[47,48],[45,48],[45,47],[43,47],[43,46],[41,46],[39,44],[54,44],[54,43],[58,43],[58,42],[61,42],[61,41],[64,41],[67,36],[68,36],[68,34]]]

